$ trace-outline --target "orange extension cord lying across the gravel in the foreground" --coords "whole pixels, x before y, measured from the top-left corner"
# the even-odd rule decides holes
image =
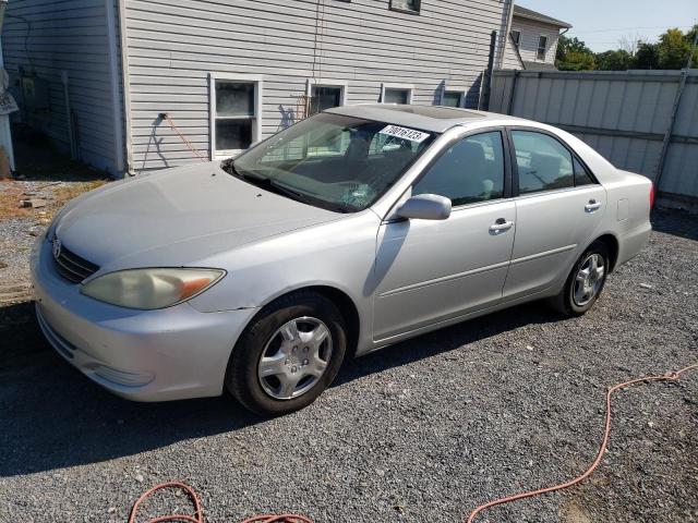
[[[468,516],[467,523],[472,523],[480,512],[486,509],[490,509],[492,507],[496,507],[497,504],[509,503],[512,501],[517,501],[519,499],[532,498],[533,496],[554,492],[556,490],[569,488],[585,481],[601,464],[601,461],[603,460],[603,454],[606,451],[606,446],[609,445],[609,438],[611,436],[611,397],[613,396],[613,393],[617,392],[621,389],[624,389],[626,387],[630,387],[637,384],[647,384],[650,381],[676,381],[677,379],[681,378],[683,374],[689,370],[694,370],[696,368],[698,368],[698,363],[684,367],[681,370],[676,370],[674,373],[666,373],[659,376],[646,376],[643,378],[630,379],[629,381],[624,381],[622,384],[617,384],[609,388],[606,392],[606,425],[603,434],[603,440],[601,441],[601,447],[599,449],[599,453],[597,454],[597,459],[593,461],[591,466],[589,466],[589,469],[585,471],[583,474],[566,483],[553,485],[552,487],[540,488],[538,490],[529,490],[526,492],[516,494],[514,496],[506,496],[504,498],[495,499],[494,501],[490,501],[488,503],[481,504],[470,513],[470,515]],[[161,515],[158,518],[151,519],[146,523],[165,523],[165,522],[204,523],[204,514],[202,512],[201,500],[198,499],[198,496],[196,495],[196,492],[192,487],[180,482],[170,482],[161,485],[156,485],[155,487],[145,491],[136,500],[136,502],[133,503],[133,508],[131,509],[131,515],[129,516],[129,523],[135,523],[136,512],[139,510],[140,504],[143,501],[145,501],[148,497],[151,497],[155,491],[160,489],[166,489],[166,488],[180,488],[184,490],[192,500],[192,503],[194,507],[194,516],[184,515],[184,514]],[[298,515],[298,514],[280,514],[280,515],[264,514],[264,515],[255,515],[253,518],[249,518],[242,521],[241,523],[313,523],[313,522],[310,519],[303,515]]]

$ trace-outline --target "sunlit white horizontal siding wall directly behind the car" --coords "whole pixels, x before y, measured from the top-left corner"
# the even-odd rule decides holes
[[[263,77],[263,137],[296,115],[309,78],[346,82],[350,105],[378,101],[382,83],[393,83],[413,85],[414,104],[437,104],[446,88],[477,106],[490,35],[501,45],[508,3],[432,0],[413,15],[388,10],[388,0],[130,0],[133,168],[198,161],[163,112],[208,154],[210,72]]]

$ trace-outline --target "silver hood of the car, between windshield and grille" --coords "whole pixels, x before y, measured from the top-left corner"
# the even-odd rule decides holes
[[[344,216],[264,191],[207,162],[88,193],[61,211],[55,231],[67,248],[105,272],[192,265]]]

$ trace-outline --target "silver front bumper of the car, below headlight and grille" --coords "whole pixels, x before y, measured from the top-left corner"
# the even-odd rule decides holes
[[[136,401],[219,396],[232,348],[255,308],[201,313],[188,303],[133,311],[80,293],[55,269],[50,244],[32,255],[39,326],[72,365]]]

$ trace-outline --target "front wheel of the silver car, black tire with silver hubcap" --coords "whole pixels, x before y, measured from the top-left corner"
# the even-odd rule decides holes
[[[226,387],[248,410],[278,416],[311,404],[337,376],[347,349],[337,306],[298,292],[265,307],[236,344]]]

